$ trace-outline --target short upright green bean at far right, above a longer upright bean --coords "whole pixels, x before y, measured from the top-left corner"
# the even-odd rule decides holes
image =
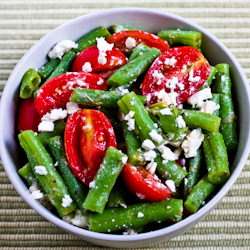
[[[231,96],[232,82],[230,78],[229,65],[222,63],[215,66],[217,72],[215,75],[215,83],[212,88],[213,92]]]

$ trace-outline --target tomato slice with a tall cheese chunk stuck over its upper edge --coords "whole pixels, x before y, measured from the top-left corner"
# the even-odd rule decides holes
[[[91,64],[92,72],[98,72],[107,69],[113,69],[117,66],[122,66],[127,63],[126,56],[116,48],[110,51],[106,51],[107,63],[100,64],[98,62],[99,50],[97,46],[91,46],[83,50],[75,59],[72,71],[79,72],[83,71],[82,66],[89,62]]]

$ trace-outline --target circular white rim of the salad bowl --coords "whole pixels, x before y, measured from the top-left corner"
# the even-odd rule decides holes
[[[5,110],[5,105],[6,105],[5,99],[7,99],[8,96],[11,96],[11,93],[12,93],[12,90],[10,88],[10,83],[15,78],[15,76],[17,74],[17,69],[20,67],[20,65],[23,64],[23,62],[25,62],[26,58],[29,57],[37,48],[39,48],[40,45],[45,40],[47,40],[50,36],[52,36],[55,31],[60,31],[61,29],[65,28],[67,26],[72,26],[72,25],[74,25],[74,23],[77,23],[79,20],[88,19],[89,17],[98,17],[102,14],[112,15],[112,14],[117,13],[117,12],[123,12],[123,14],[126,12],[136,12],[136,13],[140,12],[142,14],[154,14],[154,15],[165,17],[165,18],[168,17],[168,18],[175,19],[177,21],[181,21],[187,25],[192,26],[194,29],[199,30],[200,32],[205,34],[209,39],[211,39],[214,43],[216,43],[216,45],[228,56],[228,58],[234,62],[234,66],[239,72],[239,76],[241,77],[243,85],[244,85],[243,87],[245,88],[245,91],[247,92],[247,95],[248,95],[248,100],[247,100],[248,106],[250,106],[250,91],[249,91],[249,84],[248,84],[247,78],[246,78],[241,66],[237,62],[236,58],[226,48],[226,46],[224,44],[222,44],[222,42],[220,42],[214,35],[210,34],[208,31],[206,31],[200,25],[195,24],[195,23],[187,20],[186,18],[183,18],[181,16],[178,16],[178,15],[175,15],[172,13],[163,12],[163,11],[159,11],[159,10],[151,10],[148,8],[137,8],[137,7],[136,8],[135,7],[113,8],[113,9],[107,9],[107,10],[100,10],[100,11],[97,11],[94,13],[79,16],[75,19],[72,19],[72,20],[58,26],[57,28],[55,28],[52,31],[50,31],[49,33],[47,33],[39,41],[37,41],[25,53],[25,55],[21,58],[21,60],[18,62],[18,64],[13,69],[11,75],[9,76],[8,81],[6,82],[4,91],[2,93],[1,104],[0,104],[0,155],[1,155],[1,159],[3,162],[5,172],[7,173],[11,183],[15,187],[16,191],[25,200],[25,202],[30,207],[32,207],[38,214],[43,216],[46,220],[59,226],[60,228],[67,230],[68,232],[71,232],[71,233],[74,233],[76,235],[86,237],[89,239],[96,239],[96,240],[102,240],[102,241],[113,241],[113,242],[122,242],[122,241],[132,242],[132,241],[140,241],[140,240],[145,240],[145,239],[150,239],[150,238],[151,239],[158,238],[158,237],[163,236],[163,235],[174,234],[178,230],[181,230],[185,227],[188,227],[188,225],[196,223],[199,219],[203,218],[206,214],[208,214],[209,211],[211,211],[211,209],[213,207],[215,207],[219,203],[219,201],[226,195],[226,193],[232,187],[232,185],[234,184],[234,182],[236,181],[236,179],[240,175],[241,170],[244,167],[244,164],[248,158],[249,151],[250,151],[250,128],[248,128],[249,131],[247,134],[246,146],[241,153],[240,161],[236,165],[235,171],[233,172],[233,174],[230,176],[228,181],[223,185],[223,187],[219,190],[219,192],[204,207],[199,209],[195,214],[192,214],[189,217],[181,220],[180,222],[177,222],[177,223],[175,223],[171,226],[165,227],[165,228],[161,228],[161,229],[158,229],[155,231],[145,232],[145,233],[141,233],[141,234],[136,234],[136,235],[129,235],[129,236],[128,235],[97,233],[97,232],[89,231],[87,229],[82,229],[82,228],[73,226],[73,225],[63,221],[62,219],[60,219],[56,215],[52,214],[45,207],[43,207],[38,201],[31,198],[30,195],[27,195],[28,189],[24,185],[23,181],[21,180],[21,177],[19,177],[17,173],[13,174],[11,168],[8,167],[8,165],[10,164],[10,162],[9,162],[10,156],[5,148],[4,138],[3,138],[3,135],[1,132],[1,131],[3,131],[4,110]]]

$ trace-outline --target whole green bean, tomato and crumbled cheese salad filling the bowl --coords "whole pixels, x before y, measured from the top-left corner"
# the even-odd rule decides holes
[[[237,148],[229,65],[197,31],[126,25],[63,40],[20,84],[18,170],[63,220],[146,232],[198,211],[230,176]]]

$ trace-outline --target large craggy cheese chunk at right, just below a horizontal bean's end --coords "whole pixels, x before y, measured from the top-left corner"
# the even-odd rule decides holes
[[[194,129],[190,134],[187,135],[186,140],[183,141],[181,148],[184,150],[186,158],[195,157],[197,150],[201,146],[204,140],[204,135],[199,129]]]

